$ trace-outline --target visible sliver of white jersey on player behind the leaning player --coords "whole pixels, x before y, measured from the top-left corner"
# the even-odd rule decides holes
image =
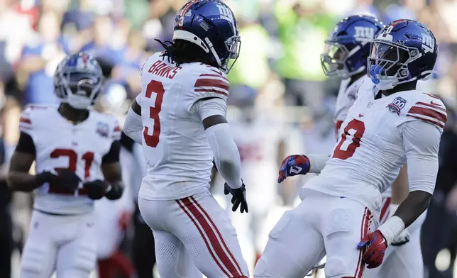
[[[358,87],[360,87],[360,84],[362,84],[362,82],[367,79],[368,77],[364,75],[350,85],[349,82],[351,82],[351,78],[341,80],[338,96],[336,96],[336,106],[334,113],[335,130],[337,134],[339,128],[341,127],[341,123],[343,123],[343,121],[346,119],[346,116],[348,115],[348,110],[357,99]]]

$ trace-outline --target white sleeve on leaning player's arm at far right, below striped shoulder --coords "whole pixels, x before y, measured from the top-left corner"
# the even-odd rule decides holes
[[[423,121],[404,123],[403,146],[408,164],[409,191],[433,194],[438,172],[438,149],[441,133]]]

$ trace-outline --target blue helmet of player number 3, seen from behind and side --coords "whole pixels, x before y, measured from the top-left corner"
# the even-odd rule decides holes
[[[228,73],[238,58],[241,40],[235,16],[219,0],[193,0],[177,12],[173,40],[187,40],[199,45],[211,59]],[[235,61],[229,67],[229,60]]]

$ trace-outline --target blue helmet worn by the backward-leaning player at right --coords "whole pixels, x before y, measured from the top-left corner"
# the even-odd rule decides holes
[[[435,36],[424,24],[409,19],[393,21],[373,40],[368,76],[381,89],[417,79],[428,79],[438,57]]]

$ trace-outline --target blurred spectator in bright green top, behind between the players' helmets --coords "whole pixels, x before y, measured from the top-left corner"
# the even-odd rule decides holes
[[[319,107],[324,99],[325,79],[319,54],[335,19],[317,0],[278,0],[275,16],[284,48],[276,67],[285,78],[285,102]]]

